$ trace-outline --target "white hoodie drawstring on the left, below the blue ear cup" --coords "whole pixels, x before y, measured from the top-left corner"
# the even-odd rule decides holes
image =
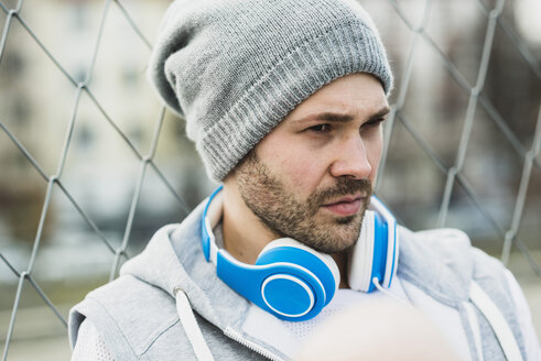
[[[190,300],[187,299],[184,289],[175,287],[174,293],[178,318],[181,319],[182,327],[184,327],[184,331],[194,349],[197,360],[214,361],[213,354],[203,338],[201,328],[197,326],[197,320],[195,319],[194,311],[192,310],[192,306],[190,306]]]

